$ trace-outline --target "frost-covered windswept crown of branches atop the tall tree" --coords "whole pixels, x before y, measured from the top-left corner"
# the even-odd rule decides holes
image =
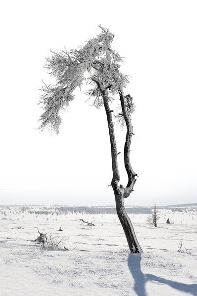
[[[98,82],[108,90],[108,100],[120,93],[129,82],[128,76],[120,72],[120,63],[123,59],[112,49],[111,43],[114,35],[109,30],[101,27],[101,33],[89,39],[84,46],[78,49],[52,51],[52,55],[46,58],[44,67],[48,73],[55,77],[55,85],[44,83],[39,104],[44,112],[40,116],[39,129],[49,127],[57,134],[62,123],[60,111],[68,107],[74,99],[73,91],[89,79],[90,89],[86,91],[89,98],[93,98],[93,105],[99,108],[103,105]],[[133,111],[131,97],[125,99],[127,111]],[[117,115],[121,121],[123,116]]]

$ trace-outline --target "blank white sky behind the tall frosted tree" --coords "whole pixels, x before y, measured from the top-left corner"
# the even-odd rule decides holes
[[[43,64],[50,49],[115,34],[131,74],[131,164],[139,175],[128,205],[197,202],[197,1],[0,2],[0,204],[113,205],[104,109],[77,91],[59,136],[38,133]],[[77,120],[74,120],[77,117]],[[116,128],[120,184],[125,133]]]

